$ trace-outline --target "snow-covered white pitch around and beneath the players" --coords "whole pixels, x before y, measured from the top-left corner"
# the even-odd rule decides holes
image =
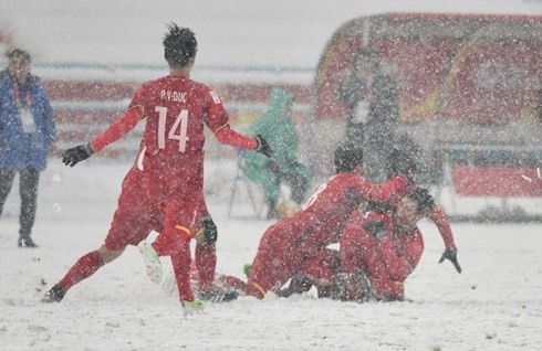
[[[19,198],[0,221],[0,350],[540,350],[542,225],[454,224],[462,274],[437,264],[436,227],[421,222],[426,252],[407,279],[406,302],[243,297],[184,317],[176,296],[147,280],[135,247],[76,285],[61,304],[39,300],[97,248],[128,162],[53,159],[41,179],[34,240],[17,247]],[[228,217],[234,164],[210,162],[209,208],[219,226],[218,272],[242,276],[271,222]],[[247,199],[238,198],[243,212]],[[248,209],[246,209],[248,211]],[[247,212],[249,213],[249,212]],[[153,234],[155,235],[155,234]],[[168,269],[169,263],[165,265]],[[170,272],[169,272],[170,274]]]

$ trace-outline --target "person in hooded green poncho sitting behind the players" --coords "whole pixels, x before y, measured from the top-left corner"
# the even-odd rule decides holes
[[[305,198],[312,179],[310,170],[298,159],[298,131],[292,120],[293,96],[275,88],[271,92],[268,110],[250,127],[248,134],[262,135],[273,150],[271,158],[247,152],[243,171],[248,179],[260,183],[268,205],[268,219],[280,217],[278,201],[281,183],[292,190],[298,205]]]

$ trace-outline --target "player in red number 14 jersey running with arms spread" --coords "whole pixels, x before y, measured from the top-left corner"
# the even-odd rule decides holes
[[[260,136],[252,138],[231,130],[218,95],[190,79],[197,52],[191,30],[171,23],[163,44],[169,75],[144,83],[123,117],[88,145],[66,150],[63,162],[73,167],[146,119],[142,184],[150,205],[164,214],[164,230],[152,244],[152,251],[171,257],[183,306],[187,310],[202,310],[202,301],[196,299],[190,287],[189,242],[202,199],[204,126],[221,143],[267,156],[272,151]]]

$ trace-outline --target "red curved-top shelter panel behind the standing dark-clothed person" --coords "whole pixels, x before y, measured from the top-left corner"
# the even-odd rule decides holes
[[[389,14],[358,21],[363,20],[371,24],[352,21],[341,28],[322,56],[315,81],[316,119],[345,118],[345,107],[335,92],[362,46],[378,53],[384,71],[396,82],[404,121],[536,118],[542,88],[542,17]],[[414,23],[409,33],[400,31],[406,22]],[[437,26],[440,32],[431,30],[436,22],[441,23]],[[397,31],[389,28],[393,25],[398,25]],[[511,25],[524,25],[525,32],[532,31],[531,25],[541,33],[527,35]],[[371,33],[365,35],[364,31]]]

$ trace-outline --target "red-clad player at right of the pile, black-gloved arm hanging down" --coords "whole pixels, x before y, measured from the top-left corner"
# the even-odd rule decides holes
[[[392,214],[373,212],[352,216],[341,240],[341,264],[346,278],[343,298],[357,301],[404,299],[405,280],[424,253],[424,238],[416,225],[423,217],[437,224],[445,241],[446,249],[439,263],[449,259],[461,273],[446,216],[426,189],[416,188],[402,199]],[[442,231],[444,227],[447,230]]]

